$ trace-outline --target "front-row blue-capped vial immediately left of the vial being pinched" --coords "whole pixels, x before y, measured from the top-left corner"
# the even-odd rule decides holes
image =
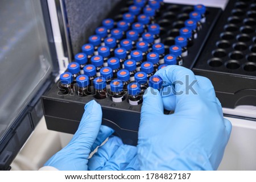
[[[132,82],[128,85],[129,104],[139,105],[142,104],[141,88],[136,82]]]

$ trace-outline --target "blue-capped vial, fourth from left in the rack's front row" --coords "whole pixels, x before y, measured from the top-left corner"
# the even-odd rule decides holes
[[[111,100],[113,102],[122,102],[125,100],[125,91],[121,80],[112,80],[110,82]]]

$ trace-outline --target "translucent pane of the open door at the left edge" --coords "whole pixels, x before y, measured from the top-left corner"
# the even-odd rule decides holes
[[[0,1],[0,139],[52,71],[39,0]]]

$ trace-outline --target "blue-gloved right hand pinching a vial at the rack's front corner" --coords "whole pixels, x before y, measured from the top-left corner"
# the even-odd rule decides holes
[[[212,83],[176,65],[160,69],[155,75],[165,81],[163,91],[174,88],[175,94],[161,96],[158,90],[148,88],[143,96],[137,146],[140,168],[217,169],[232,125],[223,118]],[[186,77],[189,78],[187,84]],[[197,80],[192,86],[196,93],[192,93],[192,89],[185,93],[193,80]],[[175,113],[165,115],[164,108]]]

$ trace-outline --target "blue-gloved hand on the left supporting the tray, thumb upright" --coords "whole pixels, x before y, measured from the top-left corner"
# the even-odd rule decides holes
[[[85,112],[82,116],[79,129],[76,131],[71,142],[53,155],[44,166],[52,166],[59,170],[88,170],[88,157],[90,152],[94,151],[97,146],[100,146],[102,142],[114,132],[114,130],[107,126],[101,126],[101,119],[101,106],[95,101],[88,102],[88,104],[85,105]],[[126,156],[123,156],[122,159],[121,156],[119,158],[113,158],[113,156],[116,155],[114,155],[115,149],[121,146],[122,143],[120,141],[121,139],[117,137],[112,138],[98,150],[99,154],[102,154],[103,148],[105,148],[106,154],[109,154],[109,158],[105,158],[104,154],[93,157],[93,162],[90,162],[90,166],[92,166],[90,169],[96,169],[93,168],[93,166],[97,166],[97,164],[102,162],[104,162],[105,166],[109,164],[109,170],[117,169],[117,167],[119,167],[118,169],[123,169],[122,165],[130,162],[130,158],[126,158]],[[131,156],[134,156],[137,152],[136,148],[132,148],[131,146],[119,148],[116,152],[117,154],[118,151],[119,154],[121,154],[122,149],[129,150]],[[95,165],[93,164],[94,162],[96,163]],[[113,164],[113,168],[111,164]]]

